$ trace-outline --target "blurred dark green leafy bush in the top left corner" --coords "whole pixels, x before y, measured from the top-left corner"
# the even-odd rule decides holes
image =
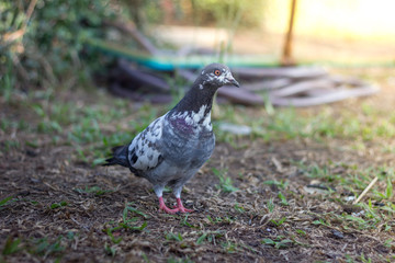
[[[100,64],[84,39],[104,37],[102,21],[114,14],[110,0],[1,1],[0,94],[87,80]]]

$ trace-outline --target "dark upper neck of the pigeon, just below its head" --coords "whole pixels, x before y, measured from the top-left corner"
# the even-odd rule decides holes
[[[200,81],[195,81],[185,96],[173,108],[177,112],[200,112],[205,107],[204,115],[211,112],[213,98],[217,89],[206,87]]]

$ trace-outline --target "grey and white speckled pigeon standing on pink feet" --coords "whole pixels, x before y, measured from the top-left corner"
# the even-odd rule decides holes
[[[227,66],[211,64],[204,67],[172,110],[155,119],[129,145],[114,147],[112,157],[103,165],[120,164],[148,180],[159,198],[159,211],[193,211],[183,206],[181,191],[213,153],[213,98],[218,88],[227,84],[239,87]],[[162,197],[167,185],[177,198],[173,209],[166,206]]]

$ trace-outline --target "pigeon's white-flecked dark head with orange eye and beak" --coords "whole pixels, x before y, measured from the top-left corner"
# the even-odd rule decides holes
[[[239,83],[232,76],[229,68],[222,64],[207,65],[202,70],[199,79],[200,89],[204,87],[217,89],[227,84],[239,87]]]

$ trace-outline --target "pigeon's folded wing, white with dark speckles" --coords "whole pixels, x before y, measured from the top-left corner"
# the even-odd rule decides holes
[[[165,116],[157,118],[133,139],[128,147],[131,170],[145,172],[156,168],[163,160],[160,144],[163,123]]]

